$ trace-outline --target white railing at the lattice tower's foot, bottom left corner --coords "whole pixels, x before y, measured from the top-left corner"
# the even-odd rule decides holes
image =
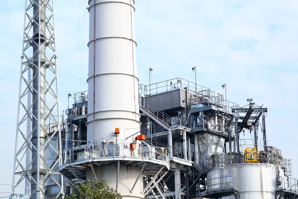
[[[14,192],[11,192],[14,187]],[[0,199],[30,199],[30,189],[20,185],[0,183]]]

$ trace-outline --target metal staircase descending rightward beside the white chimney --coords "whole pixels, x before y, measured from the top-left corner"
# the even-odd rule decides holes
[[[171,127],[171,117],[164,113],[162,110],[157,108],[151,102],[146,100],[146,98],[142,97],[139,100],[140,110],[149,116],[153,121],[164,127],[165,129],[169,129]]]

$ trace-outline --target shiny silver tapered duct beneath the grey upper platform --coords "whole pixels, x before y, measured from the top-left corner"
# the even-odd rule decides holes
[[[198,135],[199,151],[206,155],[222,153],[224,150],[224,138],[210,133]]]

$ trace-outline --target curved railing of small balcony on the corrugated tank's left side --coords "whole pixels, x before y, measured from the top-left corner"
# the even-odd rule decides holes
[[[197,185],[197,198],[211,192],[220,192],[224,190],[238,190],[238,179],[233,176],[224,176],[201,181]]]

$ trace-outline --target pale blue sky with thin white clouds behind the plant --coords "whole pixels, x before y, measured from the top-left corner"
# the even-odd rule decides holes
[[[0,183],[11,183],[25,0],[0,1]],[[87,90],[87,0],[56,0],[61,111]],[[240,106],[268,108],[269,145],[292,159],[298,179],[298,1],[136,0],[140,83],[184,78]]]

